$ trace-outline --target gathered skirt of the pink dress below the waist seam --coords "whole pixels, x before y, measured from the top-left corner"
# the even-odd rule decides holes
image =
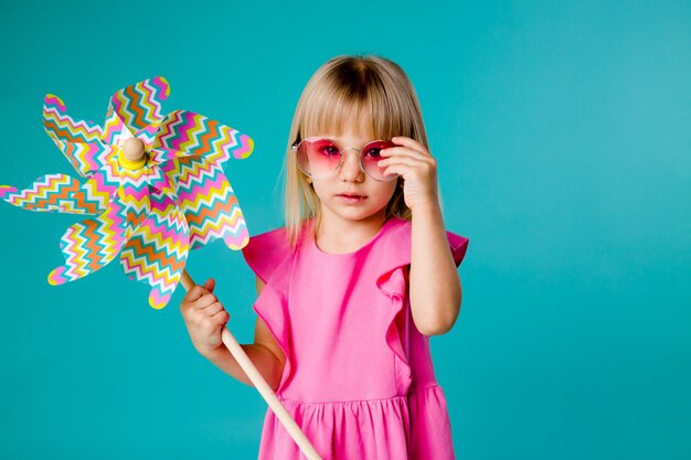
[[[438,385],[387,399],[304,403],[280,398],[315,449],[330,460],[454,460],[446,398]],[[274,413],[267,411],[262,460],[304,460]]]

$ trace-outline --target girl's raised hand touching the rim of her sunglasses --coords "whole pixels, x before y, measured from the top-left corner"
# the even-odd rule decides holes
[[[379,165],[384,174],[395,173],[403,178],[403,196],[411,208],[419,205],[439,205],[437,194],[437,160],[418,141],[407,137],[394,137],[391,147],[381,150],[384,157]]]

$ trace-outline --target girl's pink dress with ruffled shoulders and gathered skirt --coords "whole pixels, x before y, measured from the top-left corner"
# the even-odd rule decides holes
[[[447,233],[460,265],[468,238]],[[296,250],[283,228],[243,249],[266,284],[254,310],[286,354],[278,398],[325,460],[454,459],[429,338],[410,309],[411,223],[389,218],[354,253]],[[259,460],[305,459],[267,410]]]

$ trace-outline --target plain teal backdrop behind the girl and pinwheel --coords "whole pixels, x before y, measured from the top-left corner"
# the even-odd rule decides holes
[[[433,338],[459,459],[691,458],[691,4],[2,2],[0,183],[73,173],[42,98],[103,120],[164,75],[164,109],[249,133],[226,171],[252,234],[280,225],[299,94],[342,53],[400,63],[448,229],[470,238],[455,329]],[[107,6],[106,6],[107,4]],[[176,293],[117,264],[51,287],[78,217],[0,204],[0,458],[256,458],[265,404],[199,355]],[[241,342],[254,282],[192,254]]]

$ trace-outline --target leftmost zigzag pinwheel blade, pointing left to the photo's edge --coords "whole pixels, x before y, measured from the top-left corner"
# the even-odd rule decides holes
[[[22,191],[0,186],[0,197],[28,211],[98,215],[105,210],[100,200],[89,196],[81,182],[65,174],[42,175]]]

